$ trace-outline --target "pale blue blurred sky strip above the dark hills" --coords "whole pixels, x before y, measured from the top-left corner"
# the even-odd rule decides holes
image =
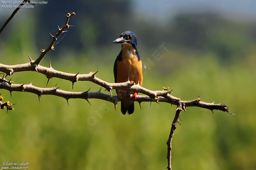
[[[255,0],[137,0],[136,13],[146,17],[166,19],[180,12],[210,11],[229,17],[255,19]]]

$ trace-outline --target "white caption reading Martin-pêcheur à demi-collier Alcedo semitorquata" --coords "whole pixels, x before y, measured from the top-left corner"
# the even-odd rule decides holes
[[[47,1],[1,1],[1,8],[34,8],[36,4],[47,4]],[[26,4],[28,6],[26,6]]]

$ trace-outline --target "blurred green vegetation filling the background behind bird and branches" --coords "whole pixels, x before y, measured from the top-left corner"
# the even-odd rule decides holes
[[[167,35],[174,45],[161,39],[163,34],[148,45],[145,41],[152,41],[151,36],[147,37],[145,31],[138,34],[142,60],[145,63],[148,59],[153,61],[143,70],[143,87],[151,90],[170,87],[174,89],[173,95],[183,100],[200,95],[205,102],[228,104],[230,111],[237,115],[221,111],[214,111],[213,115],[209,110],[187,108],[187,113],[181,115],[182,126],[178,125],[173,139],[173,169],[256,169],[255,37],[246,23],[205,16],[177,16]],[[200,19],[205,22],[199,22]],[[210,19],[218,24],[211,26]],[[28,62],[26,54],[37,58],[40,51],[33,28],[37,28],[38,22],[33,17],[25,21],[14,20],[16,26],[11,24],[10,29],[5,30],[8,38],[0,40],[1,63]],[[95,40],[94,26],[87,25],[88,29],[82,34]],[[158,26],[154,27],[153,38],[157,37],[153,33]],[[176,38],[172,29],[180,30]],[[116,32],[116,36],[120,33]],[[78,41],[86,38],[81,35]],[[61,49],[61,42],[56,45],[58,53],[50,51],[40,64],[48,66],[48,59],[51,59],[52,66],[61,71],[88,73],[98,70],[97,77],[113,82],[112,67],[120,50],[119,45],[111,44],[115,38],[108,39],[108,44],[84,50]],[[158,48],[163,42],[169,52]],[[160,61],[152,57],[155,50],[163,55]],[[44,75],[36,72],[15,73],[12,80],[14,83],[33,81],[38,87],[45,87],[47,82]],[[50,80],[48,87],[56,83],[60,89],[72,91],[71,82],[57,78]],[[86,91],[90,87],[91,91],[100,89],[91,82],[77,82],[73,91]],[[140,110],[136,103],[134,114],[122,115],[120,104],[115,110],[112,103],[101,100],[91,99],[90,106],[85,100],[71,99],[67,105],[65,99],[55,96],[42,96],[39,102],[35,94],[13,92],[10,98],[8,91],[1,90],[1,93],[4,101],[17,103],[14,111],[1,111],[2,162],[28,161],[29,169],[155,170],[167,166],[166,141],[175,106],[142,103]]]

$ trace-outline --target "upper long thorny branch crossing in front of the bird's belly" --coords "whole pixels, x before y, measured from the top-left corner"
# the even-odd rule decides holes
[[[31,65],[31,63],[33,63],[33,62],[34,61],[31,60],[29,63],[13,65],[13,66],[3,65],[0,63],[0,71],[5,72],[7,74],[9,73],[9,75],[12,75],[14,72],[19,72],[19,71],[35,71],[35,68],[32,66],[33,64]],[[152,90],[146,89],[144,87],[141,87],[139,84],[134,84],[129,80],[126,82],[123,82],[123,83],[109,83],[109,82],[106,82],[106,81],[103,81],[103,80],[97,78],[95,76],[95,74],[97,72],[95,72],[95,73],[90,72],[88,74],[66,73],[66,72],[62,72],[62,71],[53,69],[50,62],[49,62],[49,68],[38,65],[37,71],[46,75],[46,77],[48,78],[48,81],[52,77],[69,80],[72,82],[72,88],[73,88],[74,82],[91,81],[91,82],[98,84],[99,86],[105,88],[106,90],[110,91],[111,96],[112,96],[111,91],[113,89],[122,89],[122,90],[133,90],[135,92],[145,94],[148,96],[147,98],[144,98],[144,100],[146,100],[146,101],[152,101],[152,100],[155,100],[156,102],[164,101],[164,102],[171,103],[174,105],[178,105],[179,101],[182,101],[181,99],[170,95],[169,93],[171,91],[167,91],[167,90],[152,91]],[[48,83],[48,81],[47,81],[47,83]],[[182,101],[183,111],[186,112],[186,107],[188,107],[188,106],[189,107],[197,106],[197,107],[209,109],[211,111],[212,110],[221,110],[221,111],[228,112],[228,113],[232,114],[231,112],[229,112],[227,106],[224,104],[206,103],[206,102],[202,102],[200,100],[201,99],[198,98],[198,99],[191,100],[191,101]]]

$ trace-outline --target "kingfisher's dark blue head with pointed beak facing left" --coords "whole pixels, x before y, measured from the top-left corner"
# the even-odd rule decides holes
[[[113,43],[129,43],[136,47],[137,38],[132,31],[125,31],[119,36],[118,39],[114,40]]]

